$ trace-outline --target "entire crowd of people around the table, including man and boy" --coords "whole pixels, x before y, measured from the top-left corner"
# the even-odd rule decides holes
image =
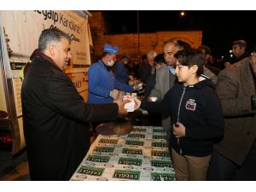
[[[120,93],[138,84],[144,92],[133,98],[135,109],[160,115],[177,180],[256,180],[256,47],[248,54],[245,41],[234,41],[235,60],[219,66],[208,46],[175,39],[159,54],[119,60],[121,48],[104,44],[84,102],[63,73],[70,43],[64,32],[44,30],[22,84],[32,180],[69,179],[90,148],[88,123],[126,114]]]

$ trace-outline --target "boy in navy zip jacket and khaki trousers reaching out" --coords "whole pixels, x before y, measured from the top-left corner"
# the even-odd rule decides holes
[[[161,102],[135,99],[136,108],[171,114],[169,143],[177,180],[205,180],[213,143],[224,135],[223,113],[211,79],[201,79],[201,51],[183,49],[175,56],[179,83]]]

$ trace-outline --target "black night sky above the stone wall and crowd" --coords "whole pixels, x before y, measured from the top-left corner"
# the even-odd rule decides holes
[[[256,11],[252,10],[201,10],[186,11],[185,17],[179,11],[139,11],[140,32],[202,30],[202,44],[212,49],[213,56],[227,55],[232,42],[244,39],[250,51],[256,45]],[[137,11],[103,11],[107,32],[137,32]],[[250,24],[251,23],[251,24]],[[254,36],[253,36],[254,32]]]

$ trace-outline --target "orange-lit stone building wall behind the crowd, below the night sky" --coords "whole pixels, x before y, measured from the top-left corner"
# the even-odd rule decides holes
[[[193,48],[201,45],[201,31],[170,31],[170,32],[148,32],[108,35],[105,31],[104,20],[101,11],[90,11],[92,17],[89,18],[92,41],[94,44],[94,58],[96,61],[101,58],[104,44],[117,45],[119,55],[129,54],[131,57],[147,54],[149,50],[155,50],[158,54],[162,52],[163,44],[166,40],[174,38],[183,40]],[[139,49],[138,49],[139,38]]]

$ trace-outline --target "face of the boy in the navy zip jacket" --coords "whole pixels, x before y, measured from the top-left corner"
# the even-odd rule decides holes
[[[175,73],[176,73],[178,82],[183,82],[183,83],[189,82],[189,79],[194,77],[193,74],[195,74],[193,67],[189,68],[188,66],[183,66],[180,63],[177,63],[177,66],[175,68]]]

